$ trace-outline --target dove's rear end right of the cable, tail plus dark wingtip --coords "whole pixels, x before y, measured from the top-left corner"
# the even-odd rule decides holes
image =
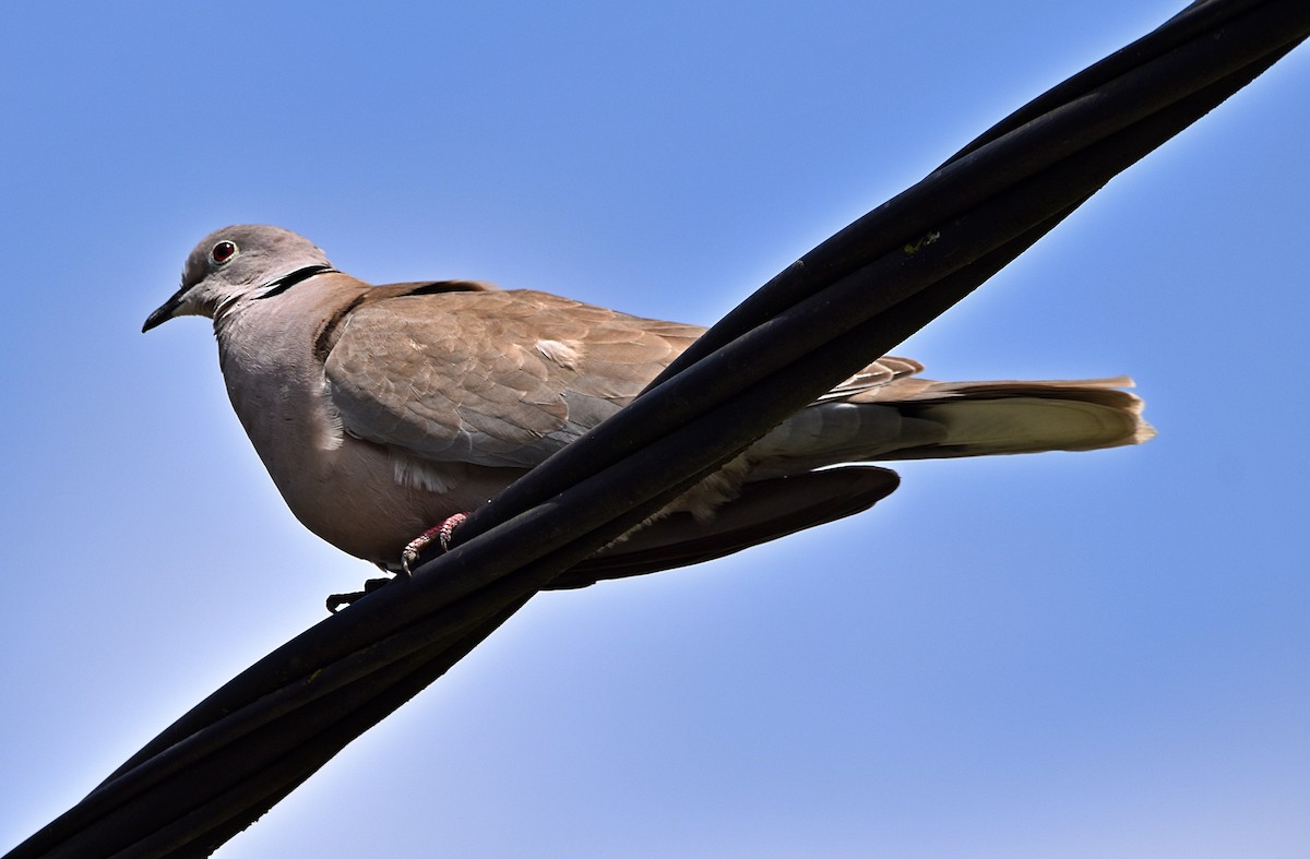
[[[934,382],[917,371],[904,359],[871,364],[553,587],[697,563],[866,509],[899,479],[867,462],[1094,450],[1155,435],[1142,401],[1121,390],[1127,377]],[[852,465],[825,467],[840,464]]]

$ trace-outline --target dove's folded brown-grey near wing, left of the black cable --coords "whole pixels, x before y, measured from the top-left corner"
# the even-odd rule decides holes
[[[333,333],[328,392],[350,435],[438,462],[531,467],[702,331],[541,292],[379,296]]]

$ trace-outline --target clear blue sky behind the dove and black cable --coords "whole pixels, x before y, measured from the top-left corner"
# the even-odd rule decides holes
[[[286,511],[207,232],[709,323],[1184,0],[17,4],[0,850],[372,568]],[[899,351],[1132,373],[1150,444],[545,594],[219,855],[1250,856],[1310,843],[1310,52]]]

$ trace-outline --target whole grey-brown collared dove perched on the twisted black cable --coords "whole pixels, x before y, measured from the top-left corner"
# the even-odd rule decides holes
[[[141,330],[187,314],[214,320],[232,406],[296,517],[392,568],[414,537],[618,411],[702,331],[466,280],[373,287],[276,227],[207,236]],[[690,563],[896,487],[884,469],[815,470],[834,464],[1153,435],[1141,401],[1119,390],[1128,378],[934,382],[920,369],[870,364],[593,560],[610,555],[614,575]]]

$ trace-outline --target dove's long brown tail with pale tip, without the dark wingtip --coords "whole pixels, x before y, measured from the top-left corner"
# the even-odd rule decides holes
[[[751,449],[751,479],[838,462],[1095,450],[1155,435],[1132,380],[935,382],[900,377],[817,402]]]

